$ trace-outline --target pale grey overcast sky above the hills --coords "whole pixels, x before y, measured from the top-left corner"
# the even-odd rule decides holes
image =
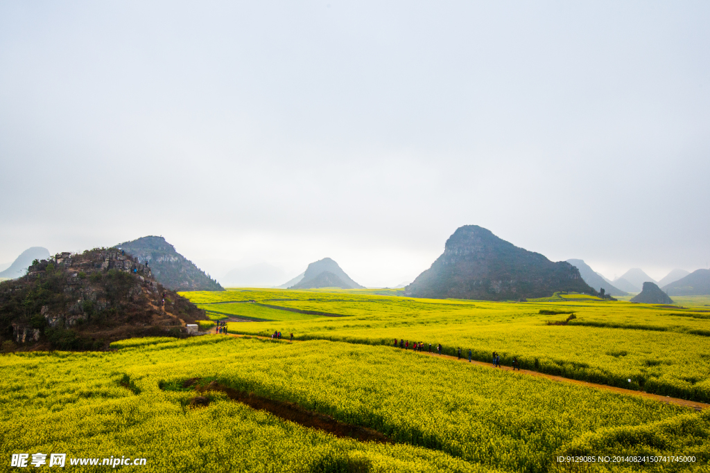
[[[163,235],[413,280],[477,224],[710,260],[707,1],[0,2],[0,262]],[[285,282],[285,281],[284,281]]]

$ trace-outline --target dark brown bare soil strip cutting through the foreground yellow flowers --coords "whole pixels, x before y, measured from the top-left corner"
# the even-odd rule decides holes
[[[183,386],[189,387],[195,384],[197,379],[188,379]],[[293,404],[284,401],[274,401],[262,396],[257,396],[253,393],[246,393],[224,386],[217,382],[211,382],[207,386],[199,386],[195,389],[200,393],[208,391],[219,391],[226,394],[232,401],[239,401],[247,406],[257,409],[258,411],[267,411],[274,416],[280,417],[286,421],[291,421],[308,428],[323,430],[327,433],[332,433],[336,437],[351,438],[360,442],[378,442],[378,443],[394,443],[391,438],[383,435],[376,430],[371,430],[360,425],[351,425],[336,421],[331,416],[307,411],[298,404]],[[197,398],[194,398],[197,401]],[[201,398],[200,401],[202,401]],[[195,403],[196,404],[196,403]]]

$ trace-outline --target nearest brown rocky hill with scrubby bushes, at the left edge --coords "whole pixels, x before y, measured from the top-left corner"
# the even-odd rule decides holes
[[[26,276],[0,283],[0,342],[25,350],[102,350],[123,338],[180,336],[200,319],[202,309],[115,249],[35,260]]]

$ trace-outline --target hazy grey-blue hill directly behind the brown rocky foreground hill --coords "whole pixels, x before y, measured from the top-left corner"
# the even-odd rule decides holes
[[[116,245],[151,267],[155,279],[171,291],[224,291],[216,280],[175,251],[165,238],[147,236]]]

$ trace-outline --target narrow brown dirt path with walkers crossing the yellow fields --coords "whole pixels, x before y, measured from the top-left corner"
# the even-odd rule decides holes
[[[237,337],[237,338],[261,338],[263,340],[273,340],[271,337],[262,337],[259,335],[241,335],[241,334],[236,334],[236,333],[229,333],[231,337]],[[288,339],[281,339],[278,340],[280,343],[289,343]],[[293,340],[294,342],[300,342],[302,340]],[[397,350],[403,350],[401,348],[398,348]],[[422,355],[422,356],[431,356],[435,358],[442,358],[448,361],[454,361],[454,362],[459,362],[459,363],[468,363],[469,365],[476,365],[479,367],[486,367],[489,369],[501,369],[503,371],[513,371],[512,367],[493,367],[493,363],[486,363],[486,362],[479,362],[472,360],[469,362],[469,360],[463,356],[461,356],[461,359],[457,357],[453,357],[451,355],[437,355],[436,353],[430,353],[430,352],[414,352],[417,355]],[[571,383],[571,384],[577,384],[579,386],[585,386],[588,388],[593,388],[593,389],[601,389],[602,391],[612,391],[618,394],[626,394],[628,396],[640,396],[644,397],[646,399],[652,399],[653,401],[658,401],[658,402],[665,402],[666,404],[675,404],[677,406],[682,406],[682,407],[687,407],[687,408],[693,408],[696,411],[701,411],[702,409],[710,408],[710,404],[704,404],[702,402],[697,402],[697,401],[686,401],[685,399],[678,399],[670,396],[660,396],[659,394],[650,394],[647,392],[643,391],[635,391],[634,389],[623,389],[623,388],[618,388],[616,386],[608,386],[607,384],[596,384],[596,383],[590,383],[586,381],[579,381],[577,379],[569,379],[569,378],[564,378],[561,376],[555,376],[553,374],[545,374],[545,373],[540,373],[537,371],[530,371],[529,369],[515,369],[515,374],[520,374],[520,376],[535,376],[535,377],[540,377],[540,378],[545,378],[545,379],[550,379],[551,381],[557,381],[557,382],[563,382],[563,383]]]

